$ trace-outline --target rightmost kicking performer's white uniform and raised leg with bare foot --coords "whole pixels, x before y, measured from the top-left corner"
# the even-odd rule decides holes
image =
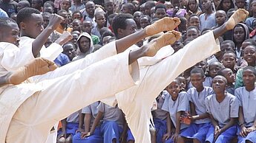
[[[138,61],[140,84],[115,95],[135,142],[151,142],[148,132],[150,109],[157,95],[180,73],[220,51],[215,39],[227,30],[233,29],[235,24],[243,21],[247,15],[246,10],[239,9],[221,27],[201,35],[174,55],[166,52],[168,49],[161,49],[155,57],[143,57]]]

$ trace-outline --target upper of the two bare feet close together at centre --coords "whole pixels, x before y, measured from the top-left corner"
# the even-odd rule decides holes
[[[162,18],[154,24],[145,27],[145,33],[148,36],[155,35],[163,31],[171,31],[180,24],[180,18]]]

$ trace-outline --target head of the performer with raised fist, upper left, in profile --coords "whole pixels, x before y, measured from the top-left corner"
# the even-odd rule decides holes
[[[21,35],[36,38],[44,29],[44,20],[39,10],[25,7],[17,15],[17,24],[21,30]]]

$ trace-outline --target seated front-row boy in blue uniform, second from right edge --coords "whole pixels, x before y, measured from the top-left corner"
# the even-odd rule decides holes
[[[234,95],[225,91],[227,80],[221,75],[214,77],[214,93],[206,97],[206,111],[211,117],[211,127],[206,142],[231,142],[237,133],[238,102]]]

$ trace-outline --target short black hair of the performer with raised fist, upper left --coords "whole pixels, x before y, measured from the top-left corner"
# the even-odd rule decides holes
[[[16,19],[18,26],[21,22],[28,21],[32,17],[33,13],[40,14],[39,10],[32,7],[24,7],[22,10],[19,10]]]

